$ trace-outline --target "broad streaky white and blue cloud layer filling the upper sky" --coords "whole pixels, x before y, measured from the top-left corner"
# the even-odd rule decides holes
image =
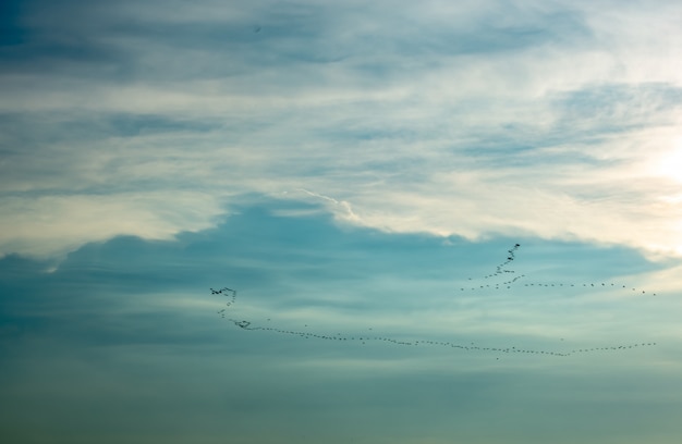
[[[15,16],[0,199],[21,214],[3,215],[5,254],[168,236],[211,223],[216,202],[300,188],[393,232],[680,250],[675,183],[649,168],[679,138],[679,71],[641,69],[677,48],[675,27],[661,49],[645,26],[674,7],[176,7],[28,2]],[[179,189],[200,197],[170,220],[131,199]],[[82,218],[76,239],[26,221],[39,208],[69,225],[48,202],[93,194],[134,222]]]

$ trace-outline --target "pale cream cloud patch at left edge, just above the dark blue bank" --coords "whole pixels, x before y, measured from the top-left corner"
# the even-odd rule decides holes
[[[0,249],[45,257],[121,234],[169,239],[212,226],[220,202],[198,193],[42,196],[0,199]]]

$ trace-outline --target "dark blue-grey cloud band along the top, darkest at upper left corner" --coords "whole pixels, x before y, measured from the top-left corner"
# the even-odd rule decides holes
[[[182,16],[187,5],[169,8],[176,8]],[[59,7],[27,2],[15,20],[23,23],[24,41],[3,50],[2,69],[33,74],[49,71],[52,76],[90,81],[169,82],[302,65],[313,70],[302,79],[309,85],[321,82],[316,64],[332,63],[351,75],[386,79],[429,69],[439,63],[437,58],[488,57],[537,46],[581,45],[589,38],[584,20],[561,9],[495,4],[471,20],[452,14],[456,20],[451,22],[418,10],[409,16],[401,8],[385,3],[322,8],[266,2],[248,8],[226,4],[222,14],[220,10],[220,4],[212,4],[205,15],[187,10],[186,20],[180,21],[139,14],[126,2],[70,1]],[[383,18],[376,21],[372,16],[379,10]],[[254,23],[260,26],[259,33],[253,33]]]

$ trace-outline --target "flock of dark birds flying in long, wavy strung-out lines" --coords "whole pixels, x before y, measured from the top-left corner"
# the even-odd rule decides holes
[[[510,264],[512,261],[514,261],[515,252],[520,247],[521,247],[520,244],[514,244],[514,246],[507,251],[508,252],[507,259],[496,267],[496,271],[483,278],[491,279],[491,278],[496,278],[496,276],[503,275],[503,274],[513,275],[515,271],[508,270],[507,266]],[[495,289],[504,288],[504,287],[511,288],[511,284],[515,283],[516,281],[519,281],[520,279],[524,276],[525,276],[524,274],[513,276],[507,281],[492,284],[492,287],[490,285],[480,285],[480,286],[474,286],[470,288],[461,287],[460,289],[461,291],[477,291],[477,289],[483,289],[483,288],[495,288]],[[472,279],[470,278],[470,280]],[[563,283],[526,283],[524,284],[524,286],[555,287],[555,286],[564,286],[564,284]],[[567,283],[565,286],[580,286],[580,285]],[[606,283],[601,283],[601,285],[582,284],[582,286],[589,287],[589,288],[599,287],[599,286],[602,286],[602,287],[613,286],[614,287],[616,284],[613,283],[611,283],[610,285],[607,285]],[[626,286],[623,285],[622,287],[625,288]],[[632,288],[632,291],[637,291],[637,288]],[[211,292],[211,295],[227,297],[228,300],[226,303],[226,307],[231,307],[232,305],[236,303],[235,289],[232,289],[229,287],[223,287],[220,289],[210,288],[210,292]],[[646,293],[645,291],[642,291],[642,294],[645,294],[645,293]],[[656,295],[656,293],[654,293],[653,295]],[[227,312],[228,312],[227,308],[222,308],[218,310],[218,313],[220,314],[222,319],[226,319]],[[458,343],[453,343],[449,341],[428,341],[428,340],[404,341],[404,340],[398,340],[398,338],[389,337],[389,336],[379,336],[379,335],[375,335],[372,333],[364,333],[364,334],[361,334],[361,333],[343,334],[340,332],[336,334],[313,333],[313,332],[303,331],[303,330],[288,330],[288,329],[280,329],[280,328],[275,328],[275,326],[259,326],[259,325],[253,325],[252,322],[246,321],[246,320],[236,320],[236,319],[231,319],[231,318],[227,318],[227,319],[231,321],[232,323],[234,323],[234,325],[243,330],[247,330],[247,331],[260,330],[260,331],[267,331],[267,332],[272,332],[272,333],[303,337],[303,338],[317,338],[317,340],[326,340],[326,341],[334,341],[334,342],[360,341],[362,344],[366,344],[367,342],[373,341],[373,342],[391,343],[391,344],[404,345],[404,346],[427,345],[427,346],[440,346],[440,347],[448,347],[448,348],[470,350],[470,351],[472,350],[473,351],[492,351],[492,353],[519,354],[519,355],[571,356],[571,355],[576,355],[576,354],[585,354],[585,353],[594,353],[594,351],[623,351],[626,349],[656,345],[655,342],[642,342],[642,343],[632,343],[632,344],[610,345],[610,346],[604,346],[604,347],[575,348],[575,349],[564,350],[564,351],[520,348],[515,346],[513,347],[509,347],[509,346],[484,347],[484,346],[476,345],[475,343],[458,344]],[[269,325],[270,320],[271,319],[267,320],[268,325]],[[307,324],[305,326],[307,328]],[[373,329],[369,328],[368,330],[373,330]],[[563,338],[561,341],[563,341]]]

